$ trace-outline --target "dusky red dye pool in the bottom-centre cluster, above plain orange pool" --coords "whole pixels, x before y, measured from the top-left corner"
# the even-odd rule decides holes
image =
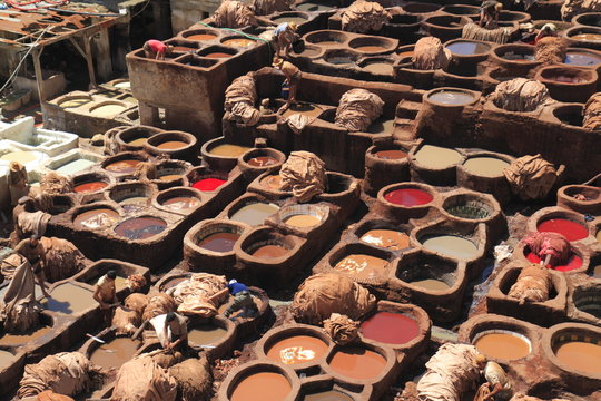
[[[361,332],[385,344],[406,344],[420,334],[420,325],[401,313],[377,312],[361,324]]]

